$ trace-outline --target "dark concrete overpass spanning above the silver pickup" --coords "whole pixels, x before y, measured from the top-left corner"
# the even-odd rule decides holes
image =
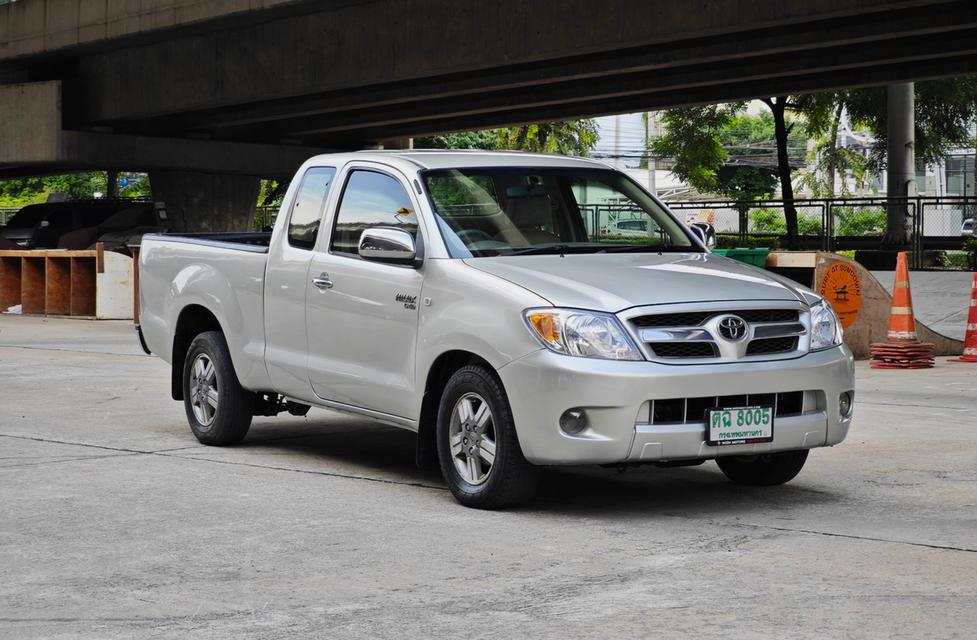
[[[318,149],[966,73],[974,0],[18,0],[0,175],[284,175]]]

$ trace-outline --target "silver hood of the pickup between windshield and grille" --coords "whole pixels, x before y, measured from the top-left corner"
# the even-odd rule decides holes
[[[554,306],[611,313],[678,302],[809,301],[786,278],[708,253],[498,256],[465,263]]]

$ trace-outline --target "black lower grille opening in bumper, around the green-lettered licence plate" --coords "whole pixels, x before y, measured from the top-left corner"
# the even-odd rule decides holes
[[[819,411],[824,405],[821,391],[784,391],[781,393],[750,393],[735,396],[701,396],[695,398],[664,398],[652,400],[649,424],[704,424],[706,411],[720,407],[752,407],[773,405],[778,418],[798,416]]]

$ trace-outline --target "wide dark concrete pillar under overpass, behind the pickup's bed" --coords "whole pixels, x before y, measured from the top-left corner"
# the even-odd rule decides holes
[[[259,179],[194,171],[151,171],[153,200],[166,203],[170,229],[253,231]]]

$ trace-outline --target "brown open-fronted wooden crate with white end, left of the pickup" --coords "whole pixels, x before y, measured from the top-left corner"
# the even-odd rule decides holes
[[[0,251],[0,312],[131,319],[132,258],[87,251]]]

